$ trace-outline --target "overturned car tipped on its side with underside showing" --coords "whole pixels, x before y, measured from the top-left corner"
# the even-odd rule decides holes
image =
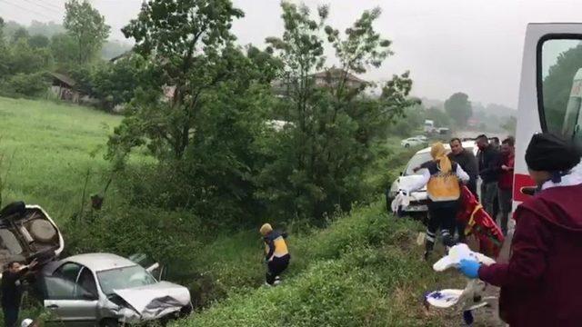
[[[40,206],[17,202],[0,210],[0,267],[34,259],[44,264],[64,249],[63,235]]]

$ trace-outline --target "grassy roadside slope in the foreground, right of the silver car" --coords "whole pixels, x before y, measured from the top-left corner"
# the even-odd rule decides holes
[[[338,218],[326,229],[291,234],[292,262],[283,285],[276,288],[260,286],[264,269],[249,268],[261,267],[256,254],[260,250],[251,253],[245,248],[236,257],[238,264],[226,264],[235,258],[223,262],[231,271],[212,272],[217,279],[236,273],[244,277],[228,282],[226,300],[175,325],[447,325],[450,317],[424,310],[422,295],[439,287],[462,286],[462,281],[433,272],[431,264],[421,260],[422,247],[414,243],[420,230],[418,223],[388,216],[378,201]],[[245,242],[242,235],[233,242]],[[246,243],[253,243],[250,238],[249,234]],[[223,244],[225,251],[236,249]]]

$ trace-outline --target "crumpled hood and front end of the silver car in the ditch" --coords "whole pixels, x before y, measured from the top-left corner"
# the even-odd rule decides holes
[[[122,312],[124,322],[155,320],[190,303],[188,289],[172,282],[156,282],[114,292],[131,307]]]

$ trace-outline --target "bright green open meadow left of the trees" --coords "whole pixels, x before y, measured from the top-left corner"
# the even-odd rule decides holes
[[[72,104],[0,97],[2,203],[24,200],[63,221],[105,185],[107,135],[122,117]]]

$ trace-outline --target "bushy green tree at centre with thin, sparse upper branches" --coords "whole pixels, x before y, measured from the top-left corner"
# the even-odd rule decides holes
[[[386,133],[395,114],[414,102],[407,99],[408,74],[386,83],[380,99],[366,97],[368,83],[354,74],[378,67],[391,54],[390,42],[373,27],[379,9],[364,12],[345,34],[326,25],[327,6],[315,18],[306,5],[282,3],[285,31],[266,39],[284,64],[280,104],[292,123],[267,147],[271,158],[259,176],[267,203],[276,214],[321,217],[336,207],[349,209],[362,187],[370,148]],[[326,66],[326,43],[336,50],[340,66]],[[316,74],[317,73],[317,74]]]

